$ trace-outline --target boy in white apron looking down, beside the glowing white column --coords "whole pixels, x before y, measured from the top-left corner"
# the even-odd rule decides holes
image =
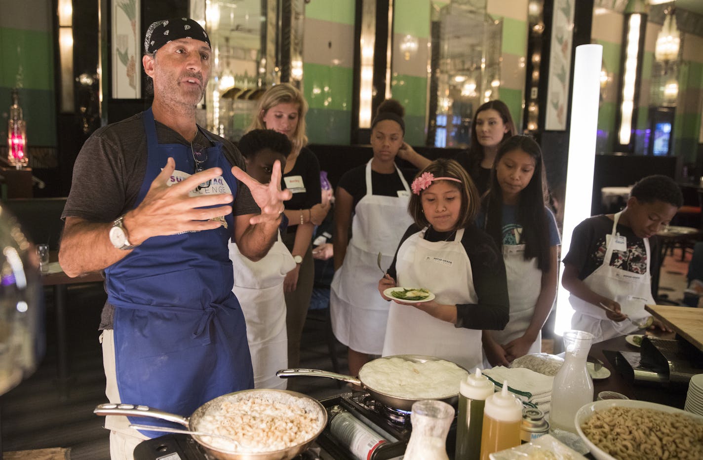
[[[598,343],[636,331],[637,326],[625,321],[628,317],[639,321],[650,316],[645,311],[645,305],[654,303],[650,278],[659,269],[652,237],[682,204],[673,179],[648,176],[633,186],[624,210],[589,217],[576,226],[562,274],[562,286],[576,310],[572,328],[592,333]],[[662,328],[657,320],[654,325]]]

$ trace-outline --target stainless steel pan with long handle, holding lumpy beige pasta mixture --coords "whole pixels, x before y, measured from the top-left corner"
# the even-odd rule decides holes
[[[188,431],[199,431],[198,423],[202,417],[208,413],[208,411],[219,409],[221,404],[225,401],[236,402],[239,400],[248,400],[252,397],[262,397],[267,400],[274,400],[276,402],[282,402],[283,404],[289,405],[295,404],[293,403],[294,400],[302,399],[304,400],[305,409],[316,414],[318,420],[318,430],[314,436],[304,442],[288,447],[288,449],[280,449],[272,452],[227,451],[209,444],[203,439],[202,435],[193,434],[193,439],[198,442],[198,444],[202,445],[207,453],[212,455],[217,460],[290,460],[307,449],[310,443],[313,442],[318,435],[320,435],[320,433],[322,433],[322,430],[327,424],[327,411],[325,411],[322,404],[309,396],[303,395],[302,393],[288,390],[243,390],[229,393],[228,395],[216,397],[214,400],[202,404],[202,406],[198,407],[198,409],[195,409],[195,412],[193,412],[193,415],[189,418],[176,414],[169,414],[169,412],[164,412],[157,409],[151,409],[146,406],[134,406],[132,404],[101,404],[95,408],[93,414],[101,416],[123,415],[152,417],[155,419],[179,423],[188,428]],[[157,429],[157,427],[154,428],[155,430]]]

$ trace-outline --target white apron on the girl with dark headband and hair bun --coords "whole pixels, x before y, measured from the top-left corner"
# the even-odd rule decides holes
[[[366,163],[366,195],[356,203],[352,239],[342,267],[330,289],[330,312],[335,337],[354,351],[380,354],[388,318],[388,302],[378,295],[378,269],[393,262],[395,250],[413,220],[408,215],[410,187],[396,166],[404,186],[399,196],[374,195],[371,161]]]

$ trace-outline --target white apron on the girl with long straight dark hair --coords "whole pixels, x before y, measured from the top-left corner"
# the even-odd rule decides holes
[[[510,320],[503,331],[491,331],[496,342],[501,345],[520,338],[534,315],[534,307],[542,290],[542,271],[537,267],[537,257],[525,260],[525,245],[503,245],[505,275],[508,279],[508,300],[510,300]],[[542,351],[542,332],[532,343],[527,353]]]

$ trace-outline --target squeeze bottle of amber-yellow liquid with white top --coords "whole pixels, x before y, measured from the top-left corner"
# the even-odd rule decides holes
[[[481,435],[481,460],[503,449],[520,445],[522,402],[508,391],[508,381],[503,390],[486,398]]]

